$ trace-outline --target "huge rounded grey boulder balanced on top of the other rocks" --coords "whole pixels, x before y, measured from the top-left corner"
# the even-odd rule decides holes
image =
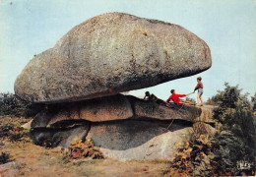
[[[32,102],[78,101],[156,86],[211,64],[206,42],[187,29],[108,13],[36,55],[17,78],[15,92]]]

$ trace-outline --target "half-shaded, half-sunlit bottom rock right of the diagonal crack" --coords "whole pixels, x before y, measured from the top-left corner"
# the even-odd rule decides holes
[[[109,122],[92,125],[87,138],[107,157],[129,159],[171,159],[178,145],[188,139],[192,128],[160,121]]]

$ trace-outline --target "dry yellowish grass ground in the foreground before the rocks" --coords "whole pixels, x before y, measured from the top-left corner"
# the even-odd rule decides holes
[[[21,144],[5,141],[4,150],[21,165],[15,167],[17,176],[164,176],[169,163],[160,160],[64,158],[60,148],[42,148],[32,143]],[[0,171],[4,175],[13,168]]]

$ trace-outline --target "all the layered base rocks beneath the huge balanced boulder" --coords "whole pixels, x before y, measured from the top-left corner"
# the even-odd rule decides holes
[[[104,156],[115,159],[171,159],[193,131],[215,133],[210,107],[180,108],[122,94],[52,104],[32,120],[32,135],[37,145],[62,148],[92,139]]]

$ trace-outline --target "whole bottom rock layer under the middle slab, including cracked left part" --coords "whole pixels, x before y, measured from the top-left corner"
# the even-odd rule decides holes
[[[32,129],[33,142],[49,148],[69,148],[76,140],[91,139],[106,157],[127,159],[171,159],[175,148],[192,133],[192,123],[160,120],[109,122],[62,121],[58,125]]]

